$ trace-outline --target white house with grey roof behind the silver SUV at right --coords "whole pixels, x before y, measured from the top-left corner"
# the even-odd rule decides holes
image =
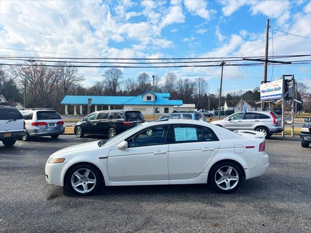
[[[260,100],[225,100],[224,110],[233,110],[236,112],[244,111],[245,107],[248,106],[248,111],[261,111]]]

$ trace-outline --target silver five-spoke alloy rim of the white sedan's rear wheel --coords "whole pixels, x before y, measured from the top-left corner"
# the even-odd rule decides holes
[[[222,166],[215,173],[215,183],[221,189],[233,189],[239,183],[239,173],[232,166]]]

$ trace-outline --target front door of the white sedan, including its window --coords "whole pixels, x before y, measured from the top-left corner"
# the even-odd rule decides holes
[[[151,127],[126,141],[127,149],[110,150],[108,176],[112,182],[169,180],[167,125]]]

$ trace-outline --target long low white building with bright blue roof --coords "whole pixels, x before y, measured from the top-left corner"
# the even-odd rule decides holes
[[[146,91],[138,96],[65,96],[61,104],[65,105],[65,115],[68,115],[68,106],[73,105],[73,115],[77,114],[77,105],[80,105],[79,115],[86,115],[88,100],[95,111],[124,109],[140,111],[143,115],[172,113],[174,106],[183,105],[182,100],[170,100],[170,93],[154,93]]]

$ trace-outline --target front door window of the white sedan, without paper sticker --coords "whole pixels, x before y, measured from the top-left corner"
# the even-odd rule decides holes
[[[165,144],[167,126],[149,128],[127,139],[129,148]]]

